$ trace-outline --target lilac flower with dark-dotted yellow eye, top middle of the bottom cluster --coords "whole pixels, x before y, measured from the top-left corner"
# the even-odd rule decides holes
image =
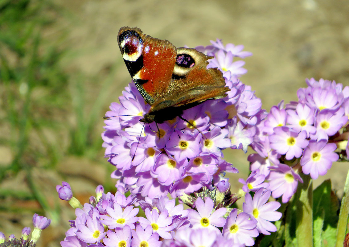
[[[214,207],[212,199],[206,197],[205,203],[198,197],[195,201],[195,208],[197,212],[193,209],[189,209],[190,223],[194,229],[206,228],[213,231],[219,232],[217,227],[222,227],[225,223],[224,217],[222,217],[227,211],[226,208],[219,208],[212,212]]]

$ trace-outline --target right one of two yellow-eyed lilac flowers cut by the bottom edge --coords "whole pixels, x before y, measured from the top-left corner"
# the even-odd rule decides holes
[[[141,225],[136,227],[136,230],[132,230],[132,247],[160,247],[161,241],[159,240],[159,234],[153,233],[153,229],[148,225],[145,229]]]

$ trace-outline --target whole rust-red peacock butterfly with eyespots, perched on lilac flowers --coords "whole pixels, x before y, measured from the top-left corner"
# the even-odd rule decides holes
[[[128,72],[151,106],[140,120],[162,123],[183,110],[230,91],[222,72],[206,68],[207,56],[192,48],[176,48],[168,40],[144,35],[139,28],[120,28],[118,44]]]

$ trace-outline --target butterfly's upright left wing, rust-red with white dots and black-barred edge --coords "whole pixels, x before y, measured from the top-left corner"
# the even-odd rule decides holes
[[[128,72],[149,105],[164,99],[176,63],[176,47],[168,40],[146,36],[139,28],[123,27],[118,44]]]

